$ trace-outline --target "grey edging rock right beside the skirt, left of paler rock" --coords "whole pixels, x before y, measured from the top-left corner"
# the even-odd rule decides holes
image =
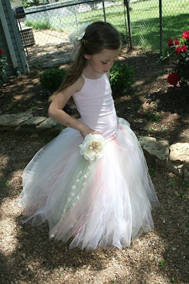
[[[152,141],[144,145],[143,151],[149,165],[164,165],[168,158],[168,141]]]

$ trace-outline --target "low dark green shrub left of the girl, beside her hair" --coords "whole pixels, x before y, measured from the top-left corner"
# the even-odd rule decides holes
[[[44,89],[47,89],[50,92],[55,92],[62,84],[66,75],[67,70],[64,68],[51,68],[40,74],[40,83]]]

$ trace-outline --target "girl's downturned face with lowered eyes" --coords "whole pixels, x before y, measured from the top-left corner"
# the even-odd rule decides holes
[[[119,54],[120,48],[116,50],[103,49],[101,53],[85,55],[85,58],[88,59],[86,70],[94,76],[97,75],[96,73],[103,75],[113,67],[113,63]]]

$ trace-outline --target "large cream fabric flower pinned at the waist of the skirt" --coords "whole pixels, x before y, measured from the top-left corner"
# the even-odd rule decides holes
[[[88,134],[84,138],[84,142],[79,145],[80,154],[84,155],[86,160],[95,160],[102,158],[105,154],[105,145],[106,145],[105,138],[101,134]]]

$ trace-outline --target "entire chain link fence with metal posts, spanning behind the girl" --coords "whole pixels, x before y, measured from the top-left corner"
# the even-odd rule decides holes
[[[88,22],[108,21],[133,47],[161,52],[167,40],[189,27],[188,0],[59,1],[17,14],[30,66],[59,65],[71,60],[71,31]]]

